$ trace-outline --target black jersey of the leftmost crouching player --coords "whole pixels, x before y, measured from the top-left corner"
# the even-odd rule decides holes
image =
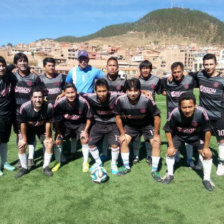
[[[18,121],[35,128],[44,126],[46,122],[52,122],[53,115],[54,110],[52,104],[43,102],[41,109],[35,111],[33,103],[28,101],[20,107]]]

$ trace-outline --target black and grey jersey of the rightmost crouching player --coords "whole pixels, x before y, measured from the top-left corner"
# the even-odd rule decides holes
[[[200,106],[196,106],[190,118],[185,117],[177,107],[170,113],[164,130],[183,140],[196,141],[204,137],[206,131],[210,131],[209,117],[206,110]]]

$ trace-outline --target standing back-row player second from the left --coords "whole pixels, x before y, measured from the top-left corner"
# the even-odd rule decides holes
[[[12,83],[15,96],[15,116],[14,116],[14,131],[18,136],[20,124],[18,122],[18,115],[20,106],[30,100],[30,91],[34,86],[41,84],[39,76],[34,73],[30,73],[28,67],[28,58],[23,53],[17,53],[14,56],[14,64],[17,67],[15,73],[12,73]],[[30,143],[30,142],[29,142]],[[31,169],[35,166],[34,163],[34,142],[29,144],[29,157],[28,157],[28,169]],[[20,164],[17,164],[17,168],[20,167]]]

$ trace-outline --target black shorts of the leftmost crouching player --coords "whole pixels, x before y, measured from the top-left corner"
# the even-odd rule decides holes
[[[26,136],[27,136],[27,143],[28,145],[32,145],[35,142],[35,137],[40,139],[40,142],[43,144],[46,134],[45,134],[45,125],[40,127],[31,127],[26,126]],[[21,132],[19,133],[19,140],[21,140]]]

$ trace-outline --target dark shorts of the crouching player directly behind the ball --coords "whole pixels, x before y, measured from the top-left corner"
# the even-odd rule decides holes
[[[116,124],[103,124],[96,122],[91,130],[89,136],[89,145],[96,145],[104,135],[108,135],[109,145],[119,146],[119,131]]]

